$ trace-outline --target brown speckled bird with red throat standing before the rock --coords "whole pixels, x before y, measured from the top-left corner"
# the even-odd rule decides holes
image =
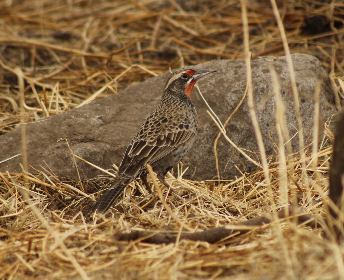
[[[132,138],[115,181],[93,206],[92,213],[105,213],[126,186],[138,177],[153,194],[147,181],[147,164],[159,181],[170,188],[165,176],[188,153],[198,131],[191,91],[198,79],[213,72],[217,70],[180,69],[169,76],[158,107]],[[175,193],[172,188],[171,191]]]

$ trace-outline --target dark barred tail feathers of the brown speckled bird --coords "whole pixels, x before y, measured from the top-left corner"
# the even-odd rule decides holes
[[[121,194],[128,183],[123,183],[115,180],[109,189],[103,194],[98,202],[93,206],[91,212],[104,213],[114,203],[115,199]]]

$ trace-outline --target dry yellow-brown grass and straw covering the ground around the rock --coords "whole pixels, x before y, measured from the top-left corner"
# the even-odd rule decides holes
[[[337,100],[343,97],[343,4],[280,3],[283,37],[270,2],[247,1],[247,17],[241,2],[1,1],[0,133],[10,132],[20,121],[39,120],[117,93],[169,67],[243,59],[248,50],[252,57],[281,56],[288,53],[283,40],[291,53],[316,55]],[[319,15],[330,23],[314,34],[305,17]],[[249,35],[245,44],[244,35]],[[22,113],[17,67],[25,79]],[[80,210],[87,212],[94,185],[105,187],[109,178],[82,182],[80,191],[78,182],[61,182],[44,170],[36,175],[0,173],[0,278],[343,278],[343,246],[324,239],[321,232],[326,229],[292,222],[276,220],[218,244],[179,240],[155,245],[113,238],[131,230],[226,226],[280,209],[295,200],[298,186],[300,207],[322,221],[331,151],[324,142],[312,154],[287,158],[282,153],[276,155],[279,160],[265,159],[266,164],[263,158],[262,171],[216,182],[214,191],[209,190],[211,182],[184,180],[178,170],[169,180],[193,202],[167,199],[177,219],[160,200],[149,200],[140,182],[127,188],[115,205],[119,211],[90,222]]]

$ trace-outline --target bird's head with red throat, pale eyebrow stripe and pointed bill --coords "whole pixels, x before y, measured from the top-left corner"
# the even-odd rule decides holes
[[[168,78],[164,92],[169,91],[177,94],[183,94],[191,99],[191,91],[196,81],[205,75],[216,72],[217,70],[201,69],[180,69],[173,72]]]

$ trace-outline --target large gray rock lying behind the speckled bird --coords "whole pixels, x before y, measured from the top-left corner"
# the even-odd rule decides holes
[[[304,138],[311,142],[313,127],[313,95],[317,81],[321,82],[321,118],[326,120],[335,113],[334,107],[327,101],[332,96],[325,71],[318,59],[307,54],[293,54],[293,64],[297,86],[301,98]],[[291,83],[285,57],[262,57],[251,61],[252,83],[257,115],[264,137],[267,155],[275,156],[276,149],[270,135],[277,143],[275,132],[275,104],[271,97],[272,83],[269,63],[273,62],[279,76],[282,98],[286,106],[286,119],[290,135],[297,127],[295,110],[291,96]],[[195,66],[198,69],[214,69],[218,72],[206,76],[198,82],[200,89],[222,122],[228,118],[238,105],[246,87],[244,60],[211,61]],[[81,108],[54,115],[40,122],[26,126],[28,139],[29,164],[36,169],[40,166],[50,169],[55,175],[76,179],[75,163],[70,156],[64,138],[73,152],[100,166],[109,169],[112,163],[119,164],[131,138],[141,123],[157,106],[168,73],[151,78],[141,84],[131,86],[121,93],[94,101]],[[325,82],[324,82],[325,81]],[[269,97],[270,96],[270,97]],[[217,126],[206,113],[207,108],[194,89],[192,100],[199,116],[199,132],[188,154],[187,165],[190,167],[185,178],[212,179],[216,177],[214,140],[219,132]],[[257,104],[259,106],[257,106]],[[239,110],[233,115],[226,127],[228,137],[239,147],[257,150],[256,139],[251,127],[247,97]],[[298,151],[298,138],[292,140],[294,151]],[[0,161],[21,153],[20,130],[0,137],[2,154]],[[256,169],[224,139],[217,144],[219,169],[222,179],[233,179],[238,174],[234,165],[241,170]],[[250,155],[250,152],[247,152]],[[256,158],[255,158],[256,159]],[[21,156],[0,164],[0,171],[21,171]],[[77,160],[80,176],[93,178],[100,171]]]

